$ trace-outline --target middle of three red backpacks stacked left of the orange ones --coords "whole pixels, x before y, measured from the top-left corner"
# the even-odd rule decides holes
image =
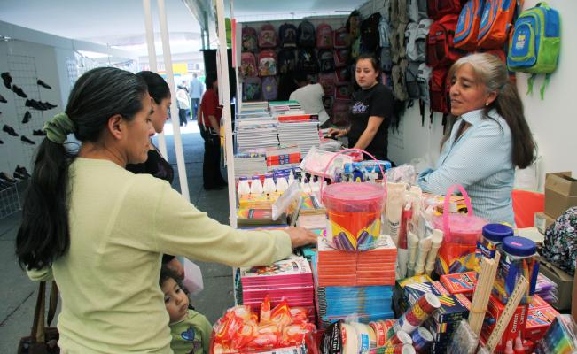
[[[457,15],[445,15],[429,28],[426,43],[426,64],[433,69],[449,66],[462,57],[462,51],[453,45]]]

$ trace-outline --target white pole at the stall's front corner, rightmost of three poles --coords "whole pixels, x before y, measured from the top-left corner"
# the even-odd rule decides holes
[[[232,125],[230,116],[230,88],[229,88],[229,58],[226,50],[226,28],[224,24],[224,3],[216,0],[216,15],[218,21],[218,52],[220,55],[221,77],[219,91],[222,92],[222,119],[224,121],[224,152],[227,160],[227,176],[229,181],[229,211],[230,226],[237,227],[237,193],[234,183],[234,154],[232,150]]]

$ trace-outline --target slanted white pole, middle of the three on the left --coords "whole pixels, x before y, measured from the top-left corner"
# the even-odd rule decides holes
[[[168,39],[167,12],[164,0],[157,0],[159,5],[160,37],[162,38],[162,55],[167,71],[167,81],[170,90],[173,92],[172,105],[170,106],[170,116],[175,136],[176,165],[178,166],[178,179],[180,181],[181,194],[187,201],[191,201],[188,190],[188,180],[186,178],[186,165],[184,165],[183,140],[180,136],[180,119],[178,119],[178,108],[176,106],[175,76],[172,71],[172,56],[170,54],[170,42]]]

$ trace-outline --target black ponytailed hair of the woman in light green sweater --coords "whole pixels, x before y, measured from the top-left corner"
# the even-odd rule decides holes
[[[134,73],[100,67],[84,73],[68,97],[66,114],[81,142],[97,142],[108,119],[120,114],[134,119],[142,108],[146,83]],[[16,236],[20,266],[51,266],[70,246],[68,225],[68,167],[74,155],[62,144],[44,138],[38,147],[30,187]]]

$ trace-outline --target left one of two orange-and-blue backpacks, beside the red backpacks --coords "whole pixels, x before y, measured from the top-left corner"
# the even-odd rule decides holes
[[[469,0],[464,4],[455,30],[455,48],[476,50],[479,36],[479,23],[485,0]]]

